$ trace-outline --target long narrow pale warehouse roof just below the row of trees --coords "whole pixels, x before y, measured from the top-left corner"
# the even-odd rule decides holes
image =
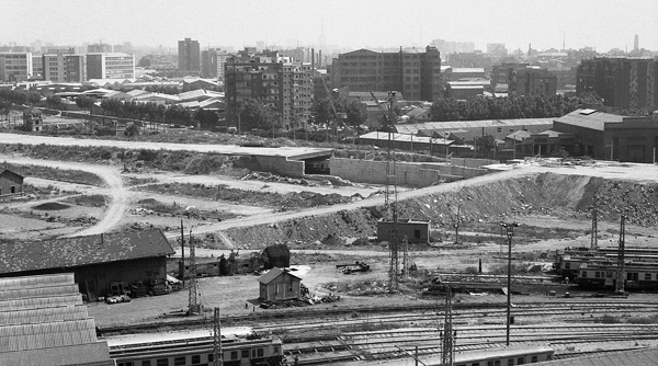
[[[480,119],[480,121],[447,121],[447,122],[428,122],[422,124],[395,125],[400,134],[418,134],[419,130],[460,130],[466,128],[481,127],[518,127],[518,126],[538,126],[553,125],[554,118],[519,118],[519,119]]]

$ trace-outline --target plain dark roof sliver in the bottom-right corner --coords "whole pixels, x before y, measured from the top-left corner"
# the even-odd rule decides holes
[[[593,356],[545,361],[535,366],[646,366],[656,365],[658,348],[629,350]]]

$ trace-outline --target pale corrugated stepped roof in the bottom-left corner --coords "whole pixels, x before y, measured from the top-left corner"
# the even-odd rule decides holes
[[[72,273],[0,278],[0,365],[114,365]]]

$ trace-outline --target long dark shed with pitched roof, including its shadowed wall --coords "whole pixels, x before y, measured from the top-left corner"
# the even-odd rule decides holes
[[[71,272],[80,293],[95,300],[115,282],[163,282],[173,253],[159,229],[11,242],[0,247],[0,277]]]

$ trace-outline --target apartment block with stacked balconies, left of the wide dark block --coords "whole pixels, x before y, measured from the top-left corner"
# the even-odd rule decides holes
[[[281,114],[285,128],[305,124],[313,103],[313,68],[283,57],[227,58],[225,65],[226,119],[238,125],[242,103],[256,99]]]

